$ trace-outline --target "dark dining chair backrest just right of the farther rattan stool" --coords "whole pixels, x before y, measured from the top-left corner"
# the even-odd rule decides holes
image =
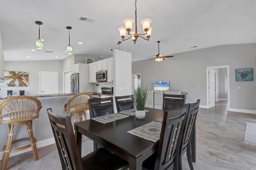
[[[88,100],[90,117],[99,117],[114,113],[113,97]]]

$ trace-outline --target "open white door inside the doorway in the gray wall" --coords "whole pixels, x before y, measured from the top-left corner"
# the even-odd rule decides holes
[[[209,69],[209,108],[215,107],[215,71]]]

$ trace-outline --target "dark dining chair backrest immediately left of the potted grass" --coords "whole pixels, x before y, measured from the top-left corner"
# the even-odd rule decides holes
[[[115,96],[117,112],[134,109],[134,98],[132,95]]]

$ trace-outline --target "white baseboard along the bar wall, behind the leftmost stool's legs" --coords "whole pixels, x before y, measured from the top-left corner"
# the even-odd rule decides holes
[[[54,139],[54,137],[52,137],[52,138],[48,138],[48,139],[40,140],[40,141],[36,142],[36,146],[37,146],[37,148],[42,148],[44,146],[48,146],[48,145],[54,144],[54,143],[55,143],[55,139]],[[24,150],[20,150],[18,152],[11,152],[9,157],[16,156],[18,154],[22,154],[22,153],[28,152],[30,150],[32,150],[31,147],[27,148],[27,149],[24,149]],[[4,155],[4,152],[3,151],[0,152],[0,160],[2,160],[3,155]]]

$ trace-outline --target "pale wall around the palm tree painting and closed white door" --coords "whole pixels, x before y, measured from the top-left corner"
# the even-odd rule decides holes
[[[4,61],[6,71],[28,72],[28,87],[3,87],[0,83],[0,96],[6,96],[7,90],[12,90],[12,95],[20,95],[20,90],[25,90],[25,95],[38,95],[39,71],[58,72],[58,91],[62,93],[62,61]]]

